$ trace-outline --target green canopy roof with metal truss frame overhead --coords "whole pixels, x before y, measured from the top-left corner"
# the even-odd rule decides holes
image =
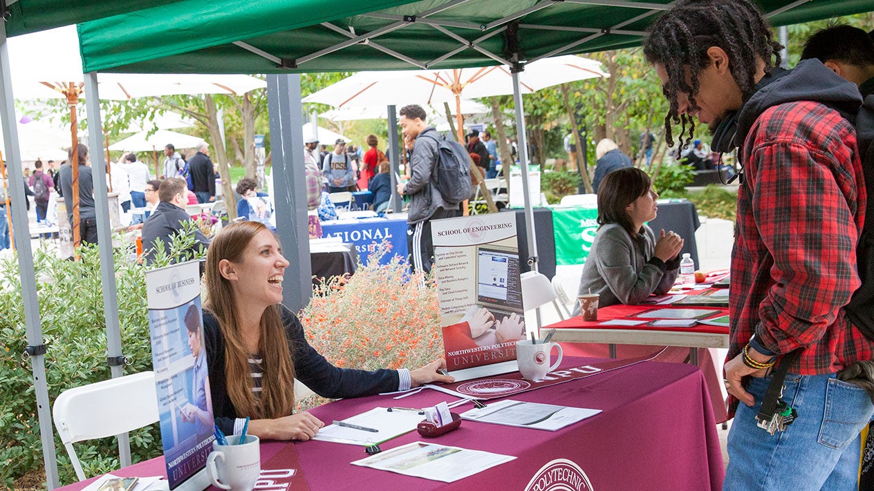
[[[760,0],[773,25],[871,0]],[[86,72],[311,73],[496,65],[639,45],[667,0],[184,0],[79,25]],[[170,17],[169,11],[173,15]],[[168,22],[168,19],[172,22]],[[510,31],[508,33],[508,31]],[[510,36],[513,32],[517,34]],[[512,45],[510,38],[517,38]]]

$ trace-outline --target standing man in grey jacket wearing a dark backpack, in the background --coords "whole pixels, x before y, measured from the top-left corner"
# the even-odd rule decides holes
[[[412,176],[398,184],[398,192],[410,197],[407,211],[407,250],[413,271],[429,272],[434,265],[431,220],[461,217],[461,202],[470,197],[467,150],[448,142],[425,122],[425,110],[415,104],[400,108],[400,128],[413,139],[410,156]]]

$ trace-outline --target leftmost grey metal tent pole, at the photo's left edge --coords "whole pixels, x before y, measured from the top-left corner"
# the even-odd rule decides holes
[[[39,419],[39,437],[43,446],[43,462],[45,463],[45,485],[49,489],[59,487],[58,460],[54,447],[54,431],[52,429],[52,412],[49,404],[48,387],[45,378],[45,344],[43,328],[39,318],[39,301],[37,298],[37,279],[33,270],[33,252],[31,250],[31,232],[27,211],[24,207],[24,178],[21,171],[21,152],[18,149],[18,128],[15,115],[15,98],[12,95],[12,75],[10,69],[9,49],[6,45],[6,21],[0,20],[0,94],[3,94],[0,104],[0,120],[3,122],[3,142],[6,142],[6,163],[9,164],[9,191],[11,198],[13,237],[17,238],[18,276],[21,280],[21,298],[24,300],[24,325],[27,329],[28,349],[33,370],[33,389],[37,397],[37,416]],[[26,356],[23,354],[23,356]]]

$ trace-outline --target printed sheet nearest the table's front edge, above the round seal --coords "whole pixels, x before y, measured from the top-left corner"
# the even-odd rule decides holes
[[[417,441],[351,463],[432,481],[454,482],[514,459],[511,455]]]

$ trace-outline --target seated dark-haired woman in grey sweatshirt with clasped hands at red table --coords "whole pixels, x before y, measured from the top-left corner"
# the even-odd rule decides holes
[[[600,294],[598,307],[640,303],[649,294],[665,294],[676,280],[683,239],[674,232],[655,233],[658,195],[641,169],[607,174],[598,188],[598,232],[583,266],[579,294]],[[573,308],[579,315],[579,301]]]

